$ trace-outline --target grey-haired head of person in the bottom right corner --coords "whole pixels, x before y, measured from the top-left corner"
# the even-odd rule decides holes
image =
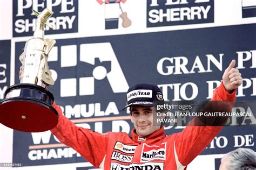
[[[219,170],[256,169],[256,153],[250,148],[238,148],[228,152],[222,159]]]

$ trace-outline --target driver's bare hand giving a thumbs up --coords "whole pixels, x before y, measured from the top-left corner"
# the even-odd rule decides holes
[[[235,60],[232,60],[222,76],[224,87],[228,92],[232,92],[242,84],[241,73],[239,73],[238,69],[233,68],[234,66]]]

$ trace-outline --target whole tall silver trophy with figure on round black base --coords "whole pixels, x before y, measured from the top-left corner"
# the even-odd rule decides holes
[[[47,20],[52,12],[48,9],[33,12],[38,17],[36,30],[19,56],[23,66],[21,82],[9,87],[0,103],[0,123],[24,132],[50,130],[58,123],[58,113],[51,106],[54,97],[47,89],[54,84],[48,54],[56,41],[44,39],[44,27],[50,26]]]

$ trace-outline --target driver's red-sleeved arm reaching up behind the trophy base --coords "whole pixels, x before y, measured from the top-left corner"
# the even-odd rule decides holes
[[[59,122],[51,132],[59,141],[72,147],[93,166],[99,167],[106,155],[109,135],[78,127],[62,114],[58,105],[53,103],[52,107],[58,111]]]

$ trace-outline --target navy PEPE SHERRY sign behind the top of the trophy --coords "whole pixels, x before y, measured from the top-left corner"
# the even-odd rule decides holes
[[[36,28],[37,17],[32,10],[42,12],[48,8],[53,12],[49,18],[52,29],[46,27],[45,34],[59,34],[78,32],[78,1],[44,1],[44,0],[14,0],[13,9],[13,37],[32,36]]]

